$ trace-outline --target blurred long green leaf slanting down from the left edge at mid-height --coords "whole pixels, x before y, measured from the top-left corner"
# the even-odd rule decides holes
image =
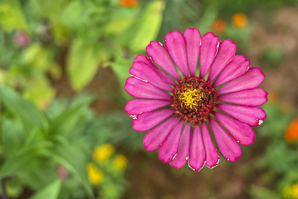
[[[34,132],[36,128],[43,130],[48,128],[48,121],[44,113],[14,90],[0,87],[0,98],[4,105],[21,119],[28,135]]]

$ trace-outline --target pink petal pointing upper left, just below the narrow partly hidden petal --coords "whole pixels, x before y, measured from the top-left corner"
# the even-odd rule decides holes
[[[167,84],[159,75],[157,75],[154,70],[152,70],[147,64],[143,62],[134,62],[132,67],[129,69],[129,72],[132,76],[143,81],[148,81],[152,85],[172,92],[173,87]]]

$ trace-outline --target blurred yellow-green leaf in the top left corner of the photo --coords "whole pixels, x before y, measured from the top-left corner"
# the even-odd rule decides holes
[[[0,3],[0,24],[1,28],[7,31],[28,31],[25,17],[18,1],[10,0]]]

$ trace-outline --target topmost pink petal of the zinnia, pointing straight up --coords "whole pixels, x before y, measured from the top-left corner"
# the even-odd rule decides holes
[[[200,53],[201,34],[197,28],[187,28],[183,33],[186,43],[187,63],[190,76],[195,76]]]

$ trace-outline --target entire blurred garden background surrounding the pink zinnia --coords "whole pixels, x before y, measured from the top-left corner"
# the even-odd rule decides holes
[[[298,198],[297,21],[298,0],[0,0],[2,198]],[[236,42],[268,92],[255,143],[200,172],[123,110],[135,56],[188,27]]]

